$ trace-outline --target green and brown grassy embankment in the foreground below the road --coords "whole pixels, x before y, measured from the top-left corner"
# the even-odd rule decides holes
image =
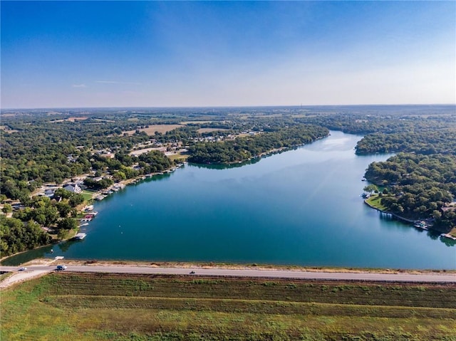
[[[1,292],[0,340],[456,340],[456,284],[53,273]]]

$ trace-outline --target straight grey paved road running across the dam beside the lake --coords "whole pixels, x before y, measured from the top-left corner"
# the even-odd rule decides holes
[[[19,267],[0,266],[0,271],[17,271]],[[56,266],[29,266],[26,273],[53,271]],[[66,271],[95,273],[145,273],[192,276],[239,276],[257,278],[298,278],[316,280],[369,280],[389,282],[456,283],[455,274],[442,273],[348,273],[281,270],[237,270],[221,268],[149,268],[145,266],[68,266]],[[21,271],[22,273],[22,271]],[[14,277],[14,276],[13,276]],[[23,275],[24,277],[24,275]]]

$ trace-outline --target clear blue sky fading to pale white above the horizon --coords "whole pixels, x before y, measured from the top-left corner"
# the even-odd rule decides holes
[[[456,103],[456,1],[1,1],[1,108]]]

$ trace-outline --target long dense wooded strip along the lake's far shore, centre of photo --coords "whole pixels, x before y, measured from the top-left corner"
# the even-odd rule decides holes
[[[224,164],[242,162],[272,149],[289,148],[313,142],[329,131],[315,125],[294,125],[257,135],[223,142],[200,142],[189,149],[189,162]]]

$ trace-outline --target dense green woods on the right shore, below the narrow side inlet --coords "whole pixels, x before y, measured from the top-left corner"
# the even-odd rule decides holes
[[[366,179],[387,186],[381,203],[410,219],[435,219],[435,229],[456,226],[456,211],[443,208],[456,196],[456,157],[442,154],[400,153],[385,162],[373,162]]]

